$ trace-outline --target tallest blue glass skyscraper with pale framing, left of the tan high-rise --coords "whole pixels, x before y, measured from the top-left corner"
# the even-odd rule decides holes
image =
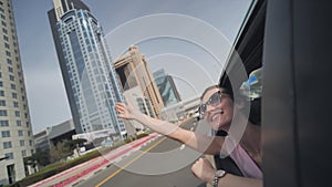
[[[123,102],[101,23],[81,0],[53,0],[49,21],[75,131],[126,134],[114,105]]]

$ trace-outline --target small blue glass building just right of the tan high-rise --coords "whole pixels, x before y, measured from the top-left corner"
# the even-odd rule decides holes
[[[164,69],[154,72],[153,75],[155,77],[155,82],[162,95],[165,107],[172,106],[181,101],[173,77],[166,74]]]

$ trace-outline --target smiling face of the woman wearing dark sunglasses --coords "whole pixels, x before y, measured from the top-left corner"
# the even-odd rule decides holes
[[[219,91],[217,87],[211,89],[203,96],[201,103],[206,104],[204,118],[212,129],[228,131],[234,115],[234,102],[227,94],[221,93],[220,96]]]

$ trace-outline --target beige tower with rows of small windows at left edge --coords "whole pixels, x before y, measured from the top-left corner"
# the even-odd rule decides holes
[[[11,0],[0,1],[0,186],[29,174],[32,127]],[[7,157],[7,159],[2,159]]]

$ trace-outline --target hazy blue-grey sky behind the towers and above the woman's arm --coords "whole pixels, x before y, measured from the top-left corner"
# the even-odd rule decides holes
[[[164,69],[183,100],[218,83],[249,0],[83,0],[113,60],[129,45]],[[33,133],[71,118],[49,24],[52,0],[12,0]]]

